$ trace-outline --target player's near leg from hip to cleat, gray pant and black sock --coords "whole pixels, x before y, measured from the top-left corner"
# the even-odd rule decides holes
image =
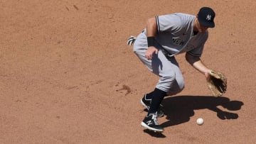
[[[173,60],[168,60],[163,52],[159,50],[158,55],[154,55],[152,60],[148,60],[145,57],[146,50],[146,35],[141,33],[137,36],[137,40],[134,43],[134,52],[139,57],[139,60],[141,60],[151,72],[159,75],[160,77],[156,88],[149,94],[149,96],[151,96],[149,113],[142,121],[142,126],[153,131],[161,132],[164,131],[164,129],[161,128],[157,122],[157,110],[159,109],[164,96],[166,96],[166,92],[169,92],[169,89],[173,88],[174,84],[180,83],[179,85],[183,87],[183,77],[181,77],[181,82],[176,82],[176,68],[174,68],[174,66],[178,67],[178,63],[176,62],[175,58]]]

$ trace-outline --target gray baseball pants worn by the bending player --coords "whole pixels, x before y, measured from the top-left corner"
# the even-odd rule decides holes
[[[145,57],[147,46],[146,35],[140,33],[134,42],[134,53],[139,57],[146,67],[159,76],[159,82],[156,84],[157,89],[166,92],[167,95],[174,95],[181,92],[184,88],[183,76],[175,57],[166,57],[164,50],[160,45],[155,45],[159,50],[154,54],[151,60]]]

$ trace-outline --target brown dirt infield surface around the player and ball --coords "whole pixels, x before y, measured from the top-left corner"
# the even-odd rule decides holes
[[[126,45],[146,19],[202,6],[215,28],[202,60],[228,77],[224,96],[184,55],[186,87],[163,101],[164,133],[140,126],[151,74]],[[256,2],[0,1],[0,143],[255,143]],[[203,126],[196,125],[203,118]]]

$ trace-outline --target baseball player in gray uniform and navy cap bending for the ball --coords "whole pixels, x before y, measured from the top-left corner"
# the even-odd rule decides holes
[[[157,117],[164,116],[159,109],[164,96],[181,92],[183,76],[175,55],[186,52],[186,60],[199,72],[208,77],[210,69],[201,62],[204,44],[208,39],[208,28],[213,28],[215,12],[203,7],[196,16],[172,13],[149,18],[146,28],[137,37],[131,37],[127,45],[134,44],[134,53],[146,67],[159,76],[154,91],[141,99],[148,113],[142,126],[151,131],[163,132]]]

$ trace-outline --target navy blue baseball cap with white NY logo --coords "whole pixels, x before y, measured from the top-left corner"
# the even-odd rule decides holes
[[[201,25],[206,26],[208,28],[214,28],[214,17],[215,12],[213,9],[210,9],[209,7],[203,7],[198,12],[198,21]]]

